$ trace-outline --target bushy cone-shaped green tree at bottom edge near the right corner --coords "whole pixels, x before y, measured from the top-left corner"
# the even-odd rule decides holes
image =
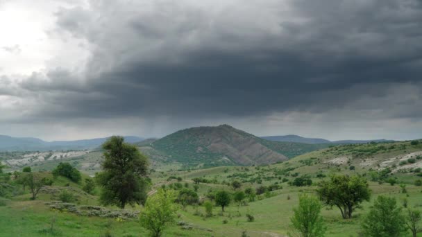
[[[362,222],[365,236],[371,237],[396,237],[405,231],[405,217],[400,207],[397,207],[396,199],[383,195],[373,203],[367,216]]]

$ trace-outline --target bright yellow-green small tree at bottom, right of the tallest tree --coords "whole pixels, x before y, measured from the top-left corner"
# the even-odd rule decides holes
[[[177,211],[175,199],[174,191],[160,189],[146,200],[145,209],[140,214],[140,222],[142,227],[151,231],[151,236],[161,236],[164,228],[175,221]]]

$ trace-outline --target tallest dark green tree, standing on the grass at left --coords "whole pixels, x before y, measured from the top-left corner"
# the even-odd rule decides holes
[[[116,204],[121,209],[126,204],[144,204],[149,184],[147,158],[136,146],[125,143],[123,137],[110,137],[102,147],[103,172],[96,176],[102,187],[100,203]]]

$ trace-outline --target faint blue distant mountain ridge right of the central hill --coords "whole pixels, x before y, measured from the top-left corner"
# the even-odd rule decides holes
[[[269,141],[287,141],[287,142],[298,142],[298,143],[307,143],[307,144],[361,144],[361,143],[369,143],[371,141],[374,142],[391,142],[394,140],[386,140],[386,139],[375,139],[375,140],[340,140],[340,141],[330,141],[327,139],[320,139],[320,138],[307,138],[301,137],[298,135],[285,135],[285,136],[266,136],[261,137],[262,139],[266,139]]]

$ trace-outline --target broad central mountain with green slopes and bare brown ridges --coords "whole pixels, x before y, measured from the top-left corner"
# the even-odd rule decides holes
[[[271,164],[328,147],[268,141],[230,125],[180,130],[153,141],[150,146],[170,160],[205,166]]]

